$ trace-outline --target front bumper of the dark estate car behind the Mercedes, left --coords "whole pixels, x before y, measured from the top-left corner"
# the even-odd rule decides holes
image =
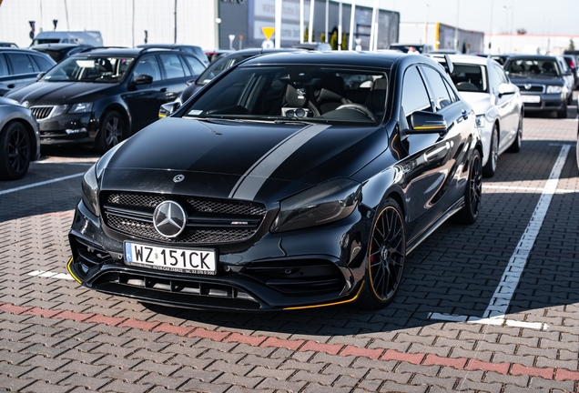
[[[98,119],[92,113],[64,114],[38,120],[42,145],[91,143],[98,130]]]

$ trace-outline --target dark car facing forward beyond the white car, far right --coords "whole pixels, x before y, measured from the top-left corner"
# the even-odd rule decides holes
[[[512,55],[504,70],[521,90],[525,112],[554,111],[559,118],[567,116],[567,103],[573,91],[556,56]]]

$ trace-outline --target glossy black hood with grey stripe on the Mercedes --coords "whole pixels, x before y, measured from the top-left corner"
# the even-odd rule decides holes
[[[274,203],[326,180],[351,176],[387,146],[381,126],[168,117],[103,159],[107,166],[100,186]]]

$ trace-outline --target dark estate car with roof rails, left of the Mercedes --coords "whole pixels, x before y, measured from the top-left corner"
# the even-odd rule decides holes
[[[9,97],[30,107],[43,145],[83,143],[104,153],[157,120],[159,106],[204,69],[178,50],[86,49]]]

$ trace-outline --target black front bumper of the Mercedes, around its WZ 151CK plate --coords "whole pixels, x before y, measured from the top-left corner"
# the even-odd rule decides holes
[[[266,217],[262,225],[270,222]],[[368,238],[370,227],[371,218],[354,212],[317,229],[266,232],[244,249],[215,246],[217,275],[206,276],[127,265],[123,242],[108,237],[81,201],[69,233],[73,255],[67,267],[85,287],[171,307],[275,311],[330,306],[358,297],[367,249],[361,239]]]

